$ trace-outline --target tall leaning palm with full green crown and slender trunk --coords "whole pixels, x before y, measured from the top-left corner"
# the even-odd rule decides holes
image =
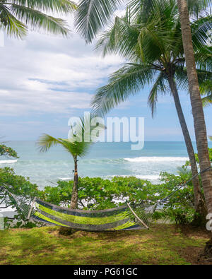
[[[97,48],[103,54],[110,52],[119,53],[131,63],[126,63],[121,69],[110,77],[110,83],[98,89],[92,105],[95,113],[106,114],[112,107],[126,100],[129,95],[139,93],[145,85],[154,81],[148,97],[152,114],[158,95],[166,94],[170,89],[174,97],[175,107],[182,127],[184,140],[187,145],[189,160],[192,165],[192,174],[197,174],[196,160],[192,141],[189,136],[187,124],[184,119],[182,107],[179,102],[178,88],[187,89],[187,71],[184,69],[184,53],[177,4],[175,1],[163,1],[158,4],[152,1],[153,8],[131,18],[129,11],[124,18],[116,18],[114,26],[104,32]],[[208,18],[196,20],[192,26],[194,40],[201,32],[201,26],[208,23]],[[196,32],[199,30],[199,32]],[[204,52],[204,65],[202,55],[196,50],[196,60],[199,64],[199,79],[201,83],[212,77]],[[201,58],[201,59],[200,59]],[[202,69],[204,67],[204,69]],[[210,68],[211,69],[211,68]],[[201,195],[199,179],[193,179],[196,211],[205,215],[204,198]]]

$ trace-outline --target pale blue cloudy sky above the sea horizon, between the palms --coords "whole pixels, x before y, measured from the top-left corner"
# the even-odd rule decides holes
[[[70,16],[69,23],[72,26]],[[73,29],[73,26],[72,26]],[[98,87],[124,59],[102,58],[73,30],[69,38],[30,32],[24,40],[4,35],[0,47],[0,136],[5,141],[35,141],[42,133],[66,138],[70,117],[90,110]],[[145,141],[183,141],[175,105],[167,92],[158,100],[154,119],[147,106],[149,87],[130,97],[108,117],[144,117]],[[189,95],[179,92],[192,140],[194,129]],[[208,134],[212,135],[211,107],[205,109]]]

